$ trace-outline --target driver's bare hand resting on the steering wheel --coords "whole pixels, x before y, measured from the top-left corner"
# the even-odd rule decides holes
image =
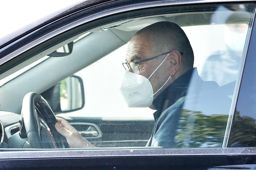
[[[94,147],[79,132],[71,126],[65,119],[56,117],[58,123],[55,124],[56,130],[67,139],[70,148]]]

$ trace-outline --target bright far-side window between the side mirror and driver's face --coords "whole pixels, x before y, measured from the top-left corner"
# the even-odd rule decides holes
[[[128,43],[75,73],[83,79],[86,102],[83,109],[75,113],[66,113],[66,115],[76,117],[127,117],[129,115],[129,117],[153,120],[154,110],[148,107],[128,108],[119,90],[125,71],[121,63],[124,62],[127,47]],[[92,72],[94,74],[91,74]],[[95,109],[98,104],[100,107]]]

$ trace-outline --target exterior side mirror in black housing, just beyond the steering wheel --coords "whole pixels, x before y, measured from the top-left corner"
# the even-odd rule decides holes
[[[83,80],[75,75],[61,80],[41,95],[55,114],[82,109],[85,103]]]

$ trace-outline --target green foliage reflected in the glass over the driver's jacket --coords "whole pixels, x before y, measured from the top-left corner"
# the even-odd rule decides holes
[[[183,110],[174,148],[222,147],[228,115],[204,115]]]

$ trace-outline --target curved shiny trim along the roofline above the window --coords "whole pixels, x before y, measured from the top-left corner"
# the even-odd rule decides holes
[[[112,14],[117,14],[119,12],[126,12],[126,11],[130,11],[130,10],[143,9],[143,8],[149,8],[149,7],[159,7],[159,6],[166,6],[166,5],[202,4],[202,3],[205,4],[205,3],[218,3],[218,2],[245,2],[245,1],[246,0],[240,0],[240,1],[235,1],[235,0],[226,0],[226,1],[225,0],[216,0],[216,1],[214,1],[214,0],[201,0],[201,1],[200,0],[172,0],[172,1],[170,1],[170,0],[168,0],[168,1],[159,1],[159,2],[145,2],[145,3],[136,4],[136,5],[126,5],[126,6],[123,6],[123,7],[118,7],[118,8],[102,11],[102,12],[99,12],[97,14],[93,14],[93,15],[90,15],[88,17],[84,17],[80,20],[74,21],[70,24],[67,24],[67,25],[61,27],[61,28],[55,29],[54,31],[52,31],[52,32],[34,40],[34,41],[32,41],[31,43],[26,44],[25,46],[23,46],[23,47],[15,50],[14,52],[6,55],[5,57],[1,58],[0,59],[0,65],[4,64],[5,62],[8,62],[9,60],[11,60],[11,59],[15,58],[16,56],[20,55],[21,53],[24,53],[25,51],[30,50],[31,48],[41,44],[42,42],[45,42],[48,39],[53,38],[53,37],[65,32],[65,31],[73,29],[74,27],[80,26],[80,25],[85,24],[87,22],[90,22],[92,20],[96,20],[96,19],[99,19],[99,18],[102,18],[102,17],[106,17],[106,16],[109,16],[109,15],[112,15]],[[255,0],[248,0],[246,2],[251,2],[251,1],[255,1]],[[105,3],[108,3],[108,2],[105,2]],[[104,3],[102,3],[102,4],[104,4]],[[89,8],[93,8],[93,7],[95,7],[95,6],[92,6],[92,7],[89,7]],[[86,8],[86,9],[89,9],[89,8]],[[83,9],[83,10],[86,10],[86,9]],[[83,11],[83,10],[81,10],[81,11]],[[78,11],[78,12],[80,12],[80,11]],[[78,12],[76,12],[76,13],[78,13]],[[61,20],[61,19],[59,19],[59,20]],[[50,24],[48,24],[44,27],[47,27]],[[44,28],[44,27],[42,27],[42,28]],[[34,32],[37,32],[42,28],[39,28]],[[34,32],[30,33],[29,35],[33,34]],[[17,41],[14,41],[13,43],[9,44],[8,46],[11,46],[12,44],[15,44]],[[6,48],[6,47],[4,47],[4,48]]]

